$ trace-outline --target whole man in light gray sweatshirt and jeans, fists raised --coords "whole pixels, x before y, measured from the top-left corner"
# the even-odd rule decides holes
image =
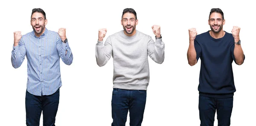
[[[155,42],[136,30],[137,14],[132,8],[123,10],[121,24],[124,30],[108,36],[105,44],[107,29],[99,29],[96,61],[102,67],[113,57],[112,126],[125,126],[128,111],[130,126],[141,126],[149,83],[148,56],[162,64],[165,45],[160,26],[151,27]]]

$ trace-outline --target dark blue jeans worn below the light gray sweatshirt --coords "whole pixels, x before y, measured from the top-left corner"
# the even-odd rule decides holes
[[[130,126],[141,126],[146,104],[146,90],[113,89],[112,93],[112,118],[111,126],[125,126],[130,113]]]

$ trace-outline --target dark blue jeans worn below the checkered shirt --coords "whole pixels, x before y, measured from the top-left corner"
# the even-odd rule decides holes
[[[42,96],[32,95],[26,91],[26,125],[39,126],[43,111],[43,126],[55,126],[59,98],[59,89],[52,95]]]

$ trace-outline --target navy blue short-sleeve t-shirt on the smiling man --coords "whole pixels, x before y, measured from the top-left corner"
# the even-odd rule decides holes
[[[207,31],[197,35],[194,43],[196,59],[201,59],[199,94],[213,98],[232,97],[236,92],[232,70],[232,62],[236,63],[232,34],[226,32],[222,38],[215,39]]]

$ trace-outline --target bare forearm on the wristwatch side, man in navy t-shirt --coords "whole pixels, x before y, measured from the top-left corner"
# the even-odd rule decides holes
[[[239,38],[235,39],[235,42],[238,42],[238,41],[239,41]],[[243,64],[243,62],[244,62],[244,52],[243,52],[243,49],[242,49],[241,45],[235,44],[234,56],[235,56],[237,64],[239,64],[239,65]]]

